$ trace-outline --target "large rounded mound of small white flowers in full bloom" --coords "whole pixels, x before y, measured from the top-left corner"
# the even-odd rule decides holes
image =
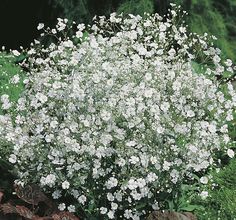
[[[0,136],[21,183],[69,197],[61,210],[137,220],[215,166],[236,106],[231,83],[226,95],[216,76],[233,74],[232,62],[170,13],[99,17],[72,38],[60,38],[67,20],[45,29],[58,42],[28,51],[17,103],[1,97]],[[192,67],[199,53],[212,63],[203,74]]]

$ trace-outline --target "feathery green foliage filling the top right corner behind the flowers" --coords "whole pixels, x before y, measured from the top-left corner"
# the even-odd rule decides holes
[[[218,38],[219,47],[225,57],[236,61],[234,48],[236,4],[234,0],[173,0],[173,3],[182,4],[189,13],[188,24],[192,32],[198,34],[208,33]]]

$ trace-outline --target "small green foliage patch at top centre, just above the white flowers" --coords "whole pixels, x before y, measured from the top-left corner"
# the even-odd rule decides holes
[[[154,12],[154,2],[152,0],[126,0],[117,9],[118,13],[139,14]]]

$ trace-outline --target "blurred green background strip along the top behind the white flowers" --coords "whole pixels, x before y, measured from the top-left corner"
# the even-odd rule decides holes
[[[192,32],[207,32],[218,38],[217,46],[226,57],[236,60],[236,0],[51,0],[61,17],[76,22],[91,22],[94,15],[111,12],[164,15],[170,3],[181,5]]]

